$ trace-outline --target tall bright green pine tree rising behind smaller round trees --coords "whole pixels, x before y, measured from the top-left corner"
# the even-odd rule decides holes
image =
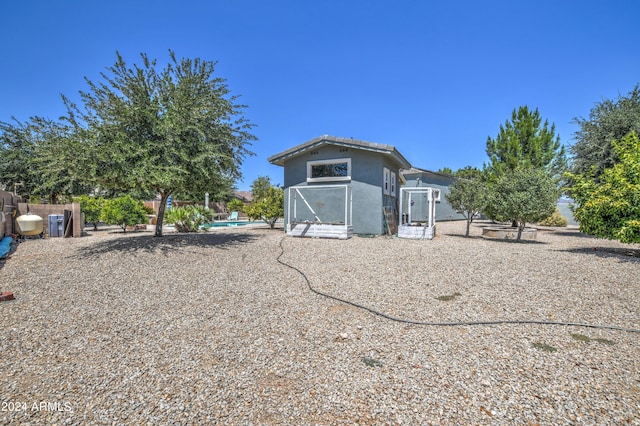
[[[543,122],[538,109],[531,111],[527,106],[514,109],[495,139],[487,138],[486,152],[489,164],[485,168],[494,179],[519,167],[541,169],[560,178],[567,167],[555,125]]]

